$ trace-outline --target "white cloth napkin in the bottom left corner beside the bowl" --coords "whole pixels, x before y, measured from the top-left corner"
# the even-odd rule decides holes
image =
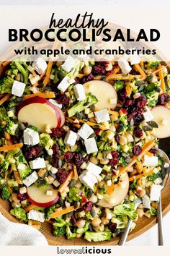
[[[37,229],[12,223],[0,213],[0,245],[48,245],[48,242]]]

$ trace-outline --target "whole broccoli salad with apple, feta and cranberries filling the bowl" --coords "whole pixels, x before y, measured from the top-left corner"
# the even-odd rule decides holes
[[[170,136],[166,64],[68,56],[0,69],[0,196],[12,216],[89,242],[156,216],[165,165],[156,148]]]

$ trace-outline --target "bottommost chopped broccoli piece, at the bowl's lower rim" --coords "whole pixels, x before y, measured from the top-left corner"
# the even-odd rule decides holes
[[[112,237],[112,233],[110,231],[102,231],[102,232],[89,232],[86,231],[84,239],[91,242],[99,242],[110,240]]]

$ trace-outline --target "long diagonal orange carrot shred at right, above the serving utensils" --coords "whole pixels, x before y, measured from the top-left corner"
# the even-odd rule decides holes
[[[134,155],[133,160],[130,163],[128,163],[127,166],[123,166],[119,168],[119,174],[117,176],[120,176],[121,174],[125,173],[125,171],[127,171],[128,168],[130,168],[131,166],[133,166],[134,163],[136,163],[138,158],[141,158],[143,155],[145,155],[146,152],[148,150],[151,150],[151,148],[153,148],[154,145],[155,145],[155,142],[153,141],[147,142],[146,145],[143,146],[143,149],[139,155]]]

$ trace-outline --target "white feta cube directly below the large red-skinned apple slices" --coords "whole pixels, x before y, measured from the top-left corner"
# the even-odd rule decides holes
[[[24,130],[24,144],[34,146],[40,142],[38,132],[33,129],[27,128]]]

